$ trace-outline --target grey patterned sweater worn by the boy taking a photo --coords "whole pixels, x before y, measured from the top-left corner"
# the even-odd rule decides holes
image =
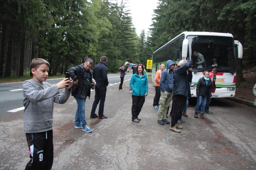
[[[24,132],[39,133],[53,129],[53,102],[63,104],[71,91],[64,89],[59,94],[56,85],[36,82],[33,79],[23,82]]]

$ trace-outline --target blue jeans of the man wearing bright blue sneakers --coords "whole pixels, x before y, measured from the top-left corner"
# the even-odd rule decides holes
[[[74,96],[76,103],[77,103],[77,110],[75,113],[75,125],[79,126],[81,123],[83,127],[88,126],[85,121],[85,100],[86,98],[76,97]]]

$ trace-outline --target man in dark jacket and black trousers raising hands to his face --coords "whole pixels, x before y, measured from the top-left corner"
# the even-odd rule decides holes
[[[192,65],[192,60],[181,60],[178,68],[175,69],[173,75],[173,112],[170,130],[180,133],[179,129],[183,127],[179,125],[178,119],[181,117],[187,97],[190,93],[189,79],[187,71]]]

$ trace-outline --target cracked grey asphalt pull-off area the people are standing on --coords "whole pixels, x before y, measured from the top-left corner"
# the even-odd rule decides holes
[[[157,123],[150,80],[140,123],[131,121],[129,81],[124,82],[123,91],[118,91],[118,83],[111,84],[104,109],[107,119],[90,118],[94,91],[86,101],[86,121],[92,133],[74,128],[74,97],[63,105],[54,105],[52,169],[256,169],[255,108],[214,99],[210,105],[213,114],[196,119],[196,101],[192,99],[189,117],[183,117],[186,123],[181,133],[175,133],[169,130],[170,125]],[[0,169],[24,169],[29,149],[23,111],[1,112]]]

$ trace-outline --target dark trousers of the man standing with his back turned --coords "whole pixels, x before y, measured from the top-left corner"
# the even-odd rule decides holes
[[[106,93],[107,93],[106,86],[96,85],[91,115],[95,115],[95,111],[96,111],[98,103],[99,103],[99,116],[103,115]]]

